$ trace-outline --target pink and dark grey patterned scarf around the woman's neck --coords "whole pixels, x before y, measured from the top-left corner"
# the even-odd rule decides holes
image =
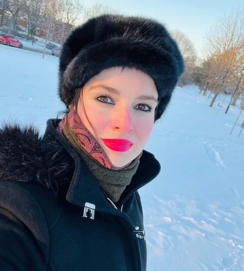
[[[142,152],[129,164],[115,167],[99,142],[85,127],[79,115],[73,111],[64,115],[57,127],[58,133],[68,140],[84,159],[100,187],[117,202],[135,174]]]

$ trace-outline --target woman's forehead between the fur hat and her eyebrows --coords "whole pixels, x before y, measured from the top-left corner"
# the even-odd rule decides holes
[[[84,89],[96,90],[96,86],[109,86],[118,91],[118,95],[152,95],[158,98],[158,92],[153,79],[135,68],[113,67],[102,70],[86,82]],[[116,93],[115,93],[116,94]]]

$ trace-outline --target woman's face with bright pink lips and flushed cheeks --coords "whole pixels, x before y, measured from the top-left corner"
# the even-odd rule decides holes
[[[158,92],[150,76],[134,68],[122,71],[113,67],[86,82],[83,95],[80,94],[84,108],[79,99],[77,112],[95,137],[85,110],[109,160],[114,166],[123,167],[142,152],[150,136],[157,98]],[[118,138],[129,140],[133,145],[123,148],[103,140]]]

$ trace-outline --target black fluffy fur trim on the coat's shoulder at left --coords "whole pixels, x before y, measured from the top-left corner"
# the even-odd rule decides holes
[[[4,124],[0,129],[0,180],[40,183],[55,193],[67,180],[71,162],[55,142],[44,142],[32,125]]]

